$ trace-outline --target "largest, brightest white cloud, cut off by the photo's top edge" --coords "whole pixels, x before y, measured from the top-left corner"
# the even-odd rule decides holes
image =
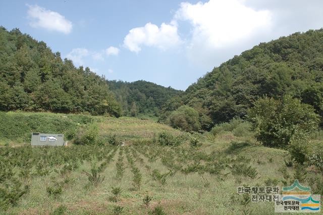
[[[207,3],[181,3],[174,19],[193,26],[192,44],[222,48],[247,39],[271,27],[271,13],[246,7],[239,0],[210,0]]]

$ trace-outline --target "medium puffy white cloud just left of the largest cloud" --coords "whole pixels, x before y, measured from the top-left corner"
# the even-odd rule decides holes
[[[144,27],[133,28],[124,39],[124,47],[138,53],[142,45],[166,50],[181,43],[177,26],[162,23],[160,27],[147,23]]]

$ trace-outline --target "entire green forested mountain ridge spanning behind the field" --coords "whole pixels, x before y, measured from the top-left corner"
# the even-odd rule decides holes
[[[143,80],[105,80],[89,68],[62,60],[59,52],[52,53],[44,42],[19,29],[1,27],[0,44],[0,111],[145,114],[167,122],[172,112],[188,105],[198,112],[201,129],[210,130],[245,118],[260,97],[290,95],[323,116],[323,29],[260,43],[206,73],[184,92]]]

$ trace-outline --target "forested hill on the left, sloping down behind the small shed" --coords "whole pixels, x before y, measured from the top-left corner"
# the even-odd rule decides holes
[[[75,68],[43,41],[0,27],[0,111],[10,110],[121,113],[104,77]]]

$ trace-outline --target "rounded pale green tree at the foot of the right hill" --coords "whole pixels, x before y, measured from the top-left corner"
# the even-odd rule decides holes
[[[180,108],[171,113],[169,124],[173,128],[179,128],[187,132],[201,129],[198,112],[187,105],[180,106]]]

